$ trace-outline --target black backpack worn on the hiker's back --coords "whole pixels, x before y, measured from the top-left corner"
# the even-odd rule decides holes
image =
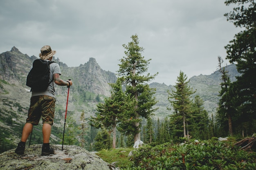
[[[49,84],[53,82],[49,82],[50,79],[50,64],[52,61],[45,61],[41,59],[36,59],[33,62],[33,67],[29,71],[27,75],[27,83],[26,85],[31,87],[31,91],[46,91]]]

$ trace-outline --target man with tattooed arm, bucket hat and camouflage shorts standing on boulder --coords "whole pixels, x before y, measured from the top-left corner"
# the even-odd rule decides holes
[[[50,46],[46,45],[41,48],[41,53],[39,54],[40,59],[51,61],[52,57],[56,51],[52,50]],[[30,106],[28,111],[28,117],[26,124],[22,130],[22,137],[16,148],[15,152],[18,155],[23,155],[25,150],[25,144],[27,138],[29,137],[33,126],[38,125],[40,117],[43,120],[43,146],[42,146],[42,155],[54,154],[54,149],[49,146],[49,139],[51,135],[52,125],[54,121],[54,111],[55,111],[55,95],[54,95],[54,83],[59,86],[71,86],[72,81],[63,81],[60,78],[61,69],[57,63],[52,63],[50,66],[50,79],[46,91],[38,92],[32,91]]]

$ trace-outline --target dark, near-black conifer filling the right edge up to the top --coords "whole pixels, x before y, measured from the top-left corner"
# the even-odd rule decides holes
[[[236,77],[237,81],[232,83],[232,90],[237,95],[236,110],[240,113],[239,117],[236,117],[239,120],[236,126],[252,134],[256,130],[256,2],[226,0],[225,4],[237,5],[225,16],[236,27],[242,28],[225,46],[226,58],[230,63],[235,63],[241,73],[241,76]]]

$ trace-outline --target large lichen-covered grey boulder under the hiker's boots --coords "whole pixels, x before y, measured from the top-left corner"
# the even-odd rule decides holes
[[[79,146],[51,145],[54,155],[41,156],[42,145],[36,144],[25,148],[24,155],[17,155],[14,150],[0,154],[1,170],[116,170],[99,156]]]

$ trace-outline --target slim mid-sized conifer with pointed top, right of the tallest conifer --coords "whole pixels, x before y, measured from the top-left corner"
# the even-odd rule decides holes
[[[189,114],[192,111],[191,107],[191,95],[195,93],[192,88],[188,85],[189,80],[187,80],[186,75],[180,71],[180,75],[177,77],[177,83],[175,84],[176,91],[168,92],[168,101],[173,106],[174,112],[171,115],[172,122],[175,123],[177,130],[180,130],[178,124],[183,126],[184,138],[189,140],[189,130],[188,130],[188,119]],[[173,126],[173,125],[171,125]]]

